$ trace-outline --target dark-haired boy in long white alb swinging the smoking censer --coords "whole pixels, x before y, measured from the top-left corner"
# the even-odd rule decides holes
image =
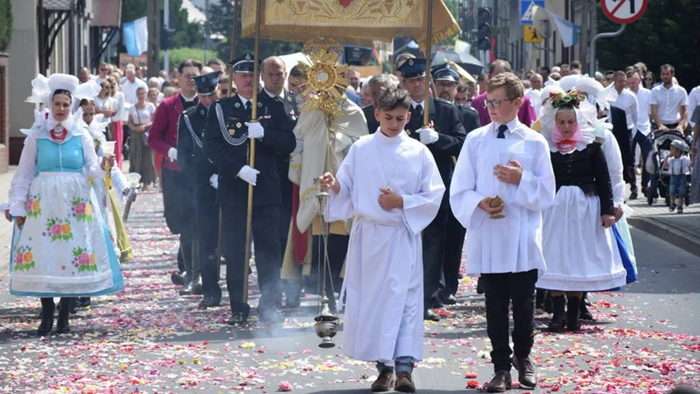
[[[415,392],[411,373],[423,355],[420,231],[437,215],[444,184],[427,147],[410,138],[410,97],[388,89],[374,110],[379,132],[350,148],[330,190],[327,221],[354,219],[348,246],[343,351],[376,361],[373,392]],[[394,376],[394,368],[396,376]]]

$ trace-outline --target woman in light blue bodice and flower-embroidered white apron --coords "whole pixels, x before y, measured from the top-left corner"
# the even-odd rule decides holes
[[[85,86],[83,86],[85,85]],[[95,155],[94,144],[71,114],[73,99],[94,96],[72,75],[39,75],[27,102],[49,110],[26,134],[9,190],[16,223],[11,248],[10,292],[41,297],[39,334],[53,328],[53,297],[62,297],[56,332],[68,332],[71,297],[106,295],[124,288],[119,258],[88,177],[104,177],[114,158]]]

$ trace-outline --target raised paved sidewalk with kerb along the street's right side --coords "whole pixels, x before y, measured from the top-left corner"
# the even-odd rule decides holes
[[[628,187],[627,196],[629,192]],[[628,217],[630,226],[700,256],[700,204],[684,207],[682,214],[669,212],[662,198],[650,206],[642,194],[627,204],[635,210]]]

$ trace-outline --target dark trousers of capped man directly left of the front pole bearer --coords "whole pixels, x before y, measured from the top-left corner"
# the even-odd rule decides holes
[[[195,213],[197,214],[197,241],[199,265],[202,272],[204,297],[221,297],[219,286],[219,205],[217,190],[211,185],[195,185]]]

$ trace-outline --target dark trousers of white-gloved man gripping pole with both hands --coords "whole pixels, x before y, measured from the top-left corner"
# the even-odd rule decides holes
[[[246,207],[222,206],[224,229],[222,243],[226,258],[226,287],[229,290],[231,312],[246,312],[243,302],[246,254]],[[252,238],[255,241],[255,264],[261,298],[258,309],[276,308],[280,299],[280,236],[279,204],[253,207]],[[272,231],[271,231],[272,230]]]

